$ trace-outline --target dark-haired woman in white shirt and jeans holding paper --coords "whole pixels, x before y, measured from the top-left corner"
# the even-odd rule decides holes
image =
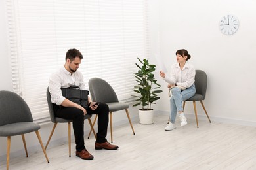
[[[177,63],[171,66],[171,75],[166,76],[163,71],[160,71],[160,76],[168,83],[170,89],[170,106],[171,115],[169,124],[165,127],[165,131],[171,131],[176,128],[175,119],[177,112],[181,120],[181,126],[187,124],[184,116],[182,101],[185,101],[195,95],[195,75],[194,66],[188,63],[191,56],[187,50],[181,49],[176,52]]]

